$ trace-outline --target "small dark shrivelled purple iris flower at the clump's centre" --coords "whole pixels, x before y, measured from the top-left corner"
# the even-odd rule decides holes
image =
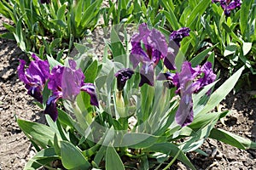
[[[133,74],[134,71],[132,71],[130,68],[121,69],[114,74],[114,76],[117,78],[117,88],[119,91],[124,89],[125,83],[132,77]]]

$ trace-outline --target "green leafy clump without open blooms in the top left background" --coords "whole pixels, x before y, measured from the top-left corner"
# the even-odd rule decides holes
[[[15,39],[24,52],[56,57],[73,48],[73,42],[92,31],[99,18],[101,1],[3,0],[0,14],[14,22],[3,23],[9,31],[0,37]]]

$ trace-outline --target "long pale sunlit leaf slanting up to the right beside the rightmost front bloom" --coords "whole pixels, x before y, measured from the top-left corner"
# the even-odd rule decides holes
[[[207,101],[204,109],[198,114],[205,114],[221,102],[224,97],[230,93],[232,88],[236,85],[237,80],[241,76],[241,72],[244,70],[244,67],[241,67],[235,74],[233,74],[228,80],[226,80],[217,90],[215,90],[210,99]]]

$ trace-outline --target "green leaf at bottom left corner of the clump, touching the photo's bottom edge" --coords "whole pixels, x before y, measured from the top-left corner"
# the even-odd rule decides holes
[[[54,148],[46,148],[40,150],[35,156],[33,156],[24,167],[24,170],[36,170],[39,167],[47,165],[50,161],[55,161],[60,159],[59,156],[55,154]]]

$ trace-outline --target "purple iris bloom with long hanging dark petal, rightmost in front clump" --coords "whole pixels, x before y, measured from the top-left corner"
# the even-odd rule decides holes
[[[188,126],[194,118],[192,94],[198,92],[201,88],[214,82],[216,75],[212,71],[210,62],[205,65],[191,67],[188,61],[182,65],[180,72],[161,73],[158,80],[167,80],[169,84],[177,88],[176,93],[180,95],[181,100],[177,108],[175,116],[177,124],[180,126]],[[207,92],[210,94],[210,92]]]

